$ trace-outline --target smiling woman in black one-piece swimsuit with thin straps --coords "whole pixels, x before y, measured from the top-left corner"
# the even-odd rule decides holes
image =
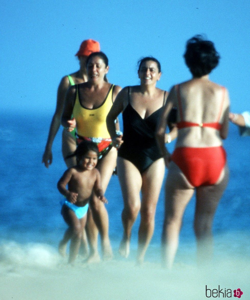
[[[146,57],[139,61],[138,75],[140,85],[125,87],[117,95],[107,116],[107,128],[113,145],[119,149],[117,172],[124,201],[119,252],[128,257],[131,229],[140,211],[137,262],[142,263],[154,232],[155,209],[165,172],[155,131],[168,92],[156,88],[161,76],[157,59]],[[117,136],[115,119],[121,112],[124,135]]]

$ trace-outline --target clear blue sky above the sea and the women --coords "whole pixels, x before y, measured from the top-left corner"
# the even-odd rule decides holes
[[[249,0],[1,0],[1,108],[53,115],[62,76],[78,70],[81,42],[93,38],[110,61],[108,79],[137,84],[137,61],[162,65],[158,87],[190,78],[188,38],[205,34],[221,55],[210,78],[225,85],[231,110],[249,110]]]

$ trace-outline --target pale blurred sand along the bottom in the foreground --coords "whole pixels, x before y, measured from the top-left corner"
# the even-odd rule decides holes
[[[232,290],[233,299],[238,288],[243,300],[250,298],[249,259],[217,259],[204,268],[185,264],[184,257],[181,261],[171,271],[154,262],[136,266],[133,259],[118,256],[92,265],[78,258],[72,267],[53,248],[14,244],[1,252],[0,298],[200,300],[207,299],[206,285],[208,296],[220,286],[222,292]]]

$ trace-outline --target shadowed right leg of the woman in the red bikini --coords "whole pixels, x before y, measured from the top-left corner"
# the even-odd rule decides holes
[[[194,230],[197,241],[197,262],[209,261],[213,255],[212,224],[219,200],[228,184],[228,167],[226,166],[218,182],[196,189],[196,209]]]

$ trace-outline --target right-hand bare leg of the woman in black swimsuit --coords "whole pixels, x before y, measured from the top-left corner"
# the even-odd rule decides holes
[[[142,174],[141,222],[138,233],[137,262],[140,264],[154,232],[154,216],[165,173],[163,158],[155,161]]]

